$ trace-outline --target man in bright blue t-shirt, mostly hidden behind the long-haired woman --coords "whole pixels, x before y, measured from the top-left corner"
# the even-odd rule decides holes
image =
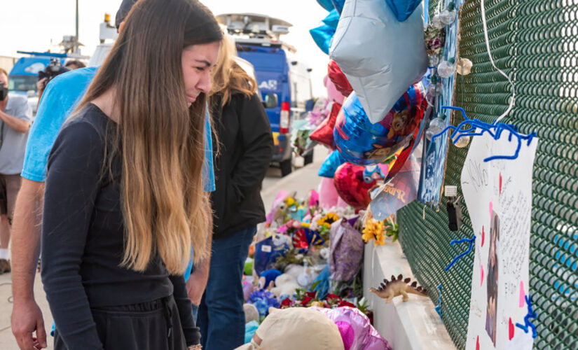
[[[123,27],[123,21],[130,7],[137,0],[123,0],[116,14],[118,30]],[[48,154],[60,132],[60,127],[81,101],[88,85],[97,73],[98,67],[89,67],[69,71],[54,78],[39,104],[36,120],[30,131],[26,147],[24,168],[22,169],[22,186],[15,206],[13,223],[13,313],[12,332],[20,349],[34,349],[36,332],[37,347],[46,347],[46,331],[42,312],[34,300],[34,276],[40,254],[40,228],[44,181],[46,181],[46,163]],[[205,164],[203,165],[203,184],[205,191],[214,191],[214,172],[212,158],[211,125],[207,112],[205,124]],[[207,208],[207,210],[211,210]],[[210,237],[210,235],[209,235]],[[203,262],[205,265],[207,262]],[[190,272],[190,268],[189,268]],[[202,283],[203,276],[195,276],[195,281]],[[193,296],[200,300],[201,290],[196,290]],[[191,296],[191,290],[189,290]]]

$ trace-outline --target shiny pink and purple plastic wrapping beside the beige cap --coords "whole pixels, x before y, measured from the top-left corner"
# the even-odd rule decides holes
[[[341,334],[345,350],[391,350],[392,347],[383,339],[369,318],[355,307],[338,307],[325,309],[312,307],[331,321]]]

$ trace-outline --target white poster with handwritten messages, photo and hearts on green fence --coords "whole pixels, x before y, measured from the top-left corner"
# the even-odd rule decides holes
[[[532,332],[515,326],[528,314],[532,168],[538,140],[518,146],[506,132],[499,140],[475,137],[462,170],[462,192],[476,235],[466,349],[532,349]],[[514,346],[514,347],[512,347]]]

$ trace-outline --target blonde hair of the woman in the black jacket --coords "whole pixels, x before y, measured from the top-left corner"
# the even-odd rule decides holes
[[[237,56],[235,41],[225,34],[219,48],[219,59],[212,73],[209,92],[211,99],[214,94],[222,94],[221,107],[230,102],[230,97],[235,91],[251,97],[257,90],[255,79],[235,62],[235,56]]]

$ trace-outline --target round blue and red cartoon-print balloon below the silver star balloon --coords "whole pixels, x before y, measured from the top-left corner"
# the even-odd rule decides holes
[[[343,103],[333,139],[343,158],[356,165],[383,162],[412,139],[425,111],[422,83],[411,85],[379,123],[372,124],[357,94]]]

